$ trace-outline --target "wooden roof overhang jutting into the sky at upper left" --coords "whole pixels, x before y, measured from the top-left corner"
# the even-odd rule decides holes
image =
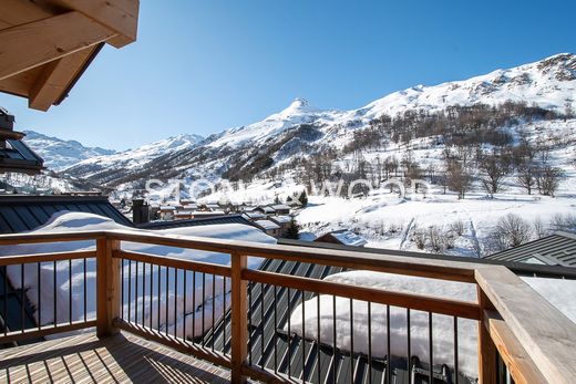
[[[0,92],[48,111],[107,43],[136,40],[140,0],[1,0]]]

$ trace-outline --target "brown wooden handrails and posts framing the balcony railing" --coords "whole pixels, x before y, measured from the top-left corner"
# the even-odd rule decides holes
[[[215,364],[230,367],[233,382],[244,382],[247,375],[257,380],[272,381],[278,381],[281,377],[247,364],[248,281],[287,287],[299,284],[299,288],[318,293],[335,288],[338,290],[338,294],[357,298],[358,300],[370,299],[374,302],[397,307],[428,309],[428,311],[435,313],[457,314],[459,316],[480,320],[481,383],[495,382],[496,353],[502,356],[517,383],[543,380],[554,383],[570,383],[576,377],[574,353],[576,351],[576,324],[503,266],[402,257],[387,255],[385,251],[382,255],[374,255],[332,249],[306,249],[297,246],[261,245],[247,241],[151,233],[142,230],[2,235],[0,236],[0,246],[80,240],[95,241],[95,253],[93,251],[81,251],[3,257],[0,258],[0,266],[81,259],[95,255],[97,268],[96,320],[85,323],[86,326],[96,325],[99,336],[113,335],[122,329],[185,350]],[[230,255],[230,267],[131,252],[122,250],[122,242],[162,245],[228,253]],[[399,294],[398,292],[378,292],[364,288],[340,287],[343,284],[320,280],[306,282],[302,278],[285,274],[275,277],[274,273],[249,270],[247,268],[248,257],[474,283],[479,290],[479,301],[477,303],[469,303],[440,298],[414,298],[414,295]],[[229,277],[232,281],[230,357],[218,354],[212,356],[210,353],[199,352],[197,347],[189,345],[189,343],[182,343],[174,338],[172,340],[169,336],[155,334],[151,330],[136,324],[123,322],[119,316],[121,305],[119,292],[122,287],[120,269],[123,258]],[[304,283],[307,283],[307,286],[302,287]],[[358,292],[358,297],[354,297],[354,290]],[[421,299],[425,304],[415,305],[414,299]],[[83,328],[82,324],[71,326],[73,329]],[[59,331],[69,331],[69,329],[65,326],[41,328],[33,332],[11,335],[13,340],[22,340],[24,339],[23,335],[27,334],[38,338]],[[1,336],[0,342],[2,342]]]

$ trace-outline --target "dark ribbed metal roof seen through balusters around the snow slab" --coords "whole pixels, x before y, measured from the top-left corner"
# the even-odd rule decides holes
[[[358,248],[352,247],[356,250]],[[259,268],[264,271],[290,276],[323,279],[341,272],[341,268],[318,266],[285,260],[266,260]],[[312,292],[305,292],[304,300],[312,298]],[[260,283],[248,284],[249,301],[249,361],[251,364],[268,370],[278,367],[278,373],[290,375],[294,381],[318,383],[318,374],[326,383],[368,383],[371,375],[373,383],[384,383],[385,360],[372,359],[354,353],[351,360],[347,351],[335,350],[331,345],[318,343],[315,340],[302,340],[284,331],[290,310],[302,302],[302,292],[295,289],[267,286]],[[276,313],[276,319],[275,319]],[[230,353],[230,313],[228,312],[214,328],[208,331],[205,345],[225,353]],[[306,353],[306,355],[305,355]],[[352,369],[353,366],[353,369]],[[392,356],[391,383],[428,383],[429,370],[425,363],[412,357],[410,369],[408,359]],[[305,369],[304,369],[305,367]],[[336,380],[333,372],[336,371]],[[434,366],[434,383],[453,383],[454,374],[445,365]],[[304,377],[302,377],[304,376]],[[459,374],[460,383],[471,383]]]

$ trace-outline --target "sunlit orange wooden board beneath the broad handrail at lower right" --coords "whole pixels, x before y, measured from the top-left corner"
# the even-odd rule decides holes
[[[487,330],[500,355],[517,384],[546,383],[529,354],[495,311],[484,311],[482,326]]]

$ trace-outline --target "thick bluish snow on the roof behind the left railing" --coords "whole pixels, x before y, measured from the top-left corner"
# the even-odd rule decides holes
[[[32,230],[30,232],[32,233],[52,233],[52,232],[70,232],[70,231],[78,231],[78,230],[113,230],[113,229],[123,229],[123,230],[132,230],[135,232],[148,232],[147,230],[143,229],[133,229],[125,226],[122,226],[120,224],[116,224],[114,220],[93,215],[93,214],[85,214],[85,212],[55,212],[52,215],[50,220],[39,227],[35,230]],[[219,225],[206,225],[206,226],[195,226],[195,227],[178,227],[178,228],[169,228],[169,229],[160,229],[154,230],[154,233],[167,233],[167,235],[181,235],[181,236],[195,236],[195,237],[206,237],[206,238],[216,238],[216,239],[232,239],[232,240],[243,240],[243,241],[254,241],[254,242],[261,242],[261,243],[276,243],[276,239],[264,233],[261,230],[248,226],[248,225],[240,225],[240,224],[219,224]],[[0,246],[0,257],[11,255],[31,255],[31,253],[49,253],[49,252],[68,252],[68,251],[78,251],[78,250],[93,250],[94,249],[94,241],[72,241],[72,242],[54,242],[54,243],[30,243],[30,245],[16,245],[16,246]],[[144,253],[152,253],[157,256],[167,256],[167,257],[174,257],[185,260],[199,260],[205,262],[213,262],[213,263],[219,263],[219,264],[229,264],[230,262],[230,256],[227,253],[219,253],[219,252],[210,252],[210,251],[200,251],[200,250],[194,250],[194,249],[183,249],[183,248],[175,248],[175,247],[166,247],[166,246],[157,246],[157,245],[146,245],[146,243],[135,243],[135,242],[125,242],[123,245],[123,249],[131,250],[131,251],[138,251]],[[255,269],[258,268],[258,266],[261,263],[261,259],[259,258],[248,258],[248,268]],[[27,284],[27,294],[28,299],[33,308],[37,308],[38,304],[38,281],[42,281],[42,286],[50,286],[50,283],[53,281],[53,269],[51,266],[48,266],[47,263],[43,263],[40,267],[40,276],[41,278],[38,278],[38,268],[37,266],[27,264],[25,268],[25,284]],[[96,262],[94,259],[88,259],[86,261],[86,289],[88,289],[88,304],[86,304],[86,312],[89,316],[95,315],[96,310],[96,302],[94,300],[95,298],[95,279],[96,279]],[[124,276],[127,278],[127,264],[124,266]],[[9,266],[7,268],[8,277],[12,283],[12,286],[16,289],[20,289],[21,281],[20,281],[20,267],[19,266]],[[134,271],[134,270],[132,270]],[[142,271],[142,270],[141,270]],[[143,274],[147,274],[150,277],[151,271],[145,270],[142,271]],[[69,280],[69,270],[68,269],[56,269],[56,277],[58,277],[58,286],[55,288],[53,287],[45,287],[45,289],[41,290],[41,300],[42,300],[42,324],[47,325],[53,322],[54,320],[54,310],[53,310],[53,292],[55,292],[55,295],[58,298],[58,302],[60,303],[68,303],[69,298],[69,287],[70,282]],[[157,271],[153,271],[157,277]],[[76,284],[80,287],[80,290],[82,290],[82,282],[84,274],[84,267],[82,260],[73,260],[72,261],[72,281],[73,286]],[[172,278],[171,278],[172,279]],[[196,281],[196,292],[203,291],[203,286],[199,279]],[[220,278],[216,278],[217,284],[216,284],[216,291],[215,294],[218,299],[216,299],[215,302],[215,312],[214,314],[216,316],[220,316],[223,314],[225,303],[223,302],[223,283]],[[182,292],[183,286],[182,280],[178,281],[181,284],[178,288],[178,291]],[[174,295],[174,280],[169,283],[169,295]],[[206,282],[206,287],[209,289],[206,289],[206,302],[210,303],[212,305],[212,292],[213,292],[213,282],[212,280]],[[74,288],[75,289],[75,288]],[[72,309],[75,308],[83,308],[83,298],[81,295],[73,295],[73,303],[71,305]],[[157,295],[154,295],[151,298],[153,301],[157,301]],[[162,299],[161,299],[162,300]],[[229,297],[226,299],[226,305],[229,303]],[[134,304],[132,304],[132,309],[134,309]],[[58,308],[58,321],[64,322],[69,321],[69,312],[68,312],[68,304],[61,305]],[[124,311],[127,311],[127,303],[125,304]],[[82,313],[80,313],[82,312]],[[212,315],[212,311],[206,311],[208,313],[208,316]],[[134,314],[133,314],[134,315]],[[146,316],[150,315],[150,312],[145,313]],[[186,322],[187,322],[187,332],[192,334],[192,332],[195,332],[196,335],[202,334],[202,332],[205,332],[209,326],[212,326],[212,318],[207,319],[206,321],[206,328],[202,329],[202,322],[196,321],[196,328],[194,331],[192,331],[191,322],[192,318],[196,316],[200,319],[203,315],[203,311],[196,311],[191,313],[191,315],[187,315]],[[34,316],[38,321],[38,312],[34,312]],[[83,318],[83,311],[75,311],[72,312],[72,320],[81,320]],[[150,318],[148,318],[150,319]],[[197,319],[197,320],[198,320]],[[155,321],[154,326],[160,326],[157,324],[157,319],[153,319]],[[150,320],[148,320],[150,321]],[[162,320],[164,321],[164,320]],[[174,326],[177,328],[178,332],[183,332],[184,330],[184,321],[182,319],[177,319],[176,323],[174,322],[173,318],[168,319],[168,328],[174,329]],[[164,325],[163,325],[164,326]]]

